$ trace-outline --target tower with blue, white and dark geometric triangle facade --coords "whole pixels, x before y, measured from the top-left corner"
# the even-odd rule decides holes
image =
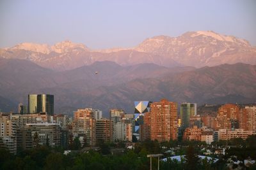
[[[151,101],[134,101],[134,119],[135,119],[135,133],[139,133],[139,127],[142,124],[144,113],[150,111]]]

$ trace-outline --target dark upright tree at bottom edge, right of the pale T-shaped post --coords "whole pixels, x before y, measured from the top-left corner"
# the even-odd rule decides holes
[[[191,145],[188,146],[186,150],[185,159],[186,159],[186,169],[191,169],[191,170],[197,169],[199,159],[195,153],[195,148],[193,146]]]

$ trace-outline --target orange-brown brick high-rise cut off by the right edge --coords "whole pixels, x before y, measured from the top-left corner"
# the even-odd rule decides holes
[[[256,106],[246,106],[239,112],[239,128],[256,131]]]

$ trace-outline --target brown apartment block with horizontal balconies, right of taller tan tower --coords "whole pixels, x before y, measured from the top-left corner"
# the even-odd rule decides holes
[[[111,120],[102,118],[96,120],[96,141],[110,142],[113,139],[111,134]]]

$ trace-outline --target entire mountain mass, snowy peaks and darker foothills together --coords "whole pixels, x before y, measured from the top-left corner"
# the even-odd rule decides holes
[[[132,113],[133,101],[255,103],[256,48],[212,31],[156,36],[134,48],[92,50],[63,41],[0,50],[0,109],[17,111],[28,94],[54,94],[56,113],[110,108]]]

